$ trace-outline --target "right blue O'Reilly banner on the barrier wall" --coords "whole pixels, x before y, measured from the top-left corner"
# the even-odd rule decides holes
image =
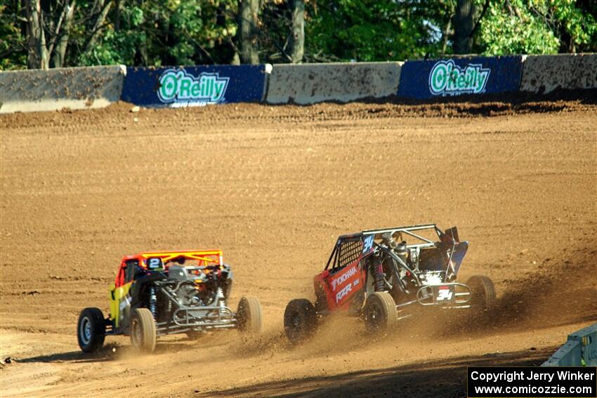
[[[522,74],[520,55],[407,61],[400,70],[398,96],[426,100],[518,91]]]

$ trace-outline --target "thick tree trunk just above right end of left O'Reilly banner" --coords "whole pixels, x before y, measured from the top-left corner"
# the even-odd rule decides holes
[[[258,64],[259,0],[238,0],[238,42],[240,62]]]

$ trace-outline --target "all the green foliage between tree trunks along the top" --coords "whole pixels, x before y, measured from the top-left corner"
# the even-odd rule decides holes
[[[112,2],[110,12],[89,45],[104,1]],[[27,65],[24,4],[0,0],[0,69]],[[456,4],[306,0],[304,60],[386,61],[450,54]],[[485,0],[475,4],[478,19]],[[228,64],[235,54],[236,15],[237,0],[77,0],[65,66]],[[262,62],[288,62],[289,18],[289,0],[262,0]],[[596,20],[594,0],[491,0],[475,29],[473,51],[594,52]]]

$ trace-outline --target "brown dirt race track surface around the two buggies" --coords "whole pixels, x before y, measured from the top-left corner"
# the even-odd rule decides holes
[[[596,106],[129,109],[0,117],[2,397],[461,396],[466,365],[539,364],[597,321]],[[471,242],[461,279],[492,277],[495,312],[376,341],[332,319],[287,345],[284,306],[338,234],[429,221]],[[261,299],[262,338],[79,352],[78,313],[107,311],[123,254],[213,247],[232,302]]]

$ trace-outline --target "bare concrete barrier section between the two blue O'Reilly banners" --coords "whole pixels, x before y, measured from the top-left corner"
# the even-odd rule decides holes
[[[273,65],[265,102],[300,105],[395,95],[402,62]]]

